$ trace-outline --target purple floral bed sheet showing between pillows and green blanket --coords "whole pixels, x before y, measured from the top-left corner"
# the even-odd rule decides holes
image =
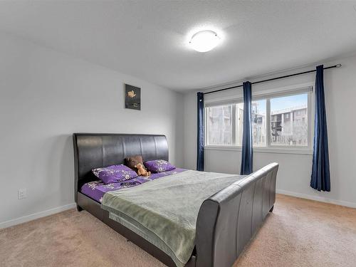
[[[186,169],[175,168],[167,172],[152,173],[150,177],[139,176],[134,179],[127,180],[125,182],[117,182],[112,184],[104,184],[102,181],[93,181],[83,184],[80,192],[87,195],[88,197],[101,203],[103,196],[106,192],[115,191],[127,187],[136,187],[137,185],[144,184],[145,182],[150,182],[157,178],[165,177],[171,174],[177,174],[179,172],[184,172]]]

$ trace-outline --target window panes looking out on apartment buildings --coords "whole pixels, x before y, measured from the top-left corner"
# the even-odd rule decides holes
[[[310,147],[311,87],[254,98],[251,105],[253,147]],[[241,147],[244,103],[208,104],[206,145]]]

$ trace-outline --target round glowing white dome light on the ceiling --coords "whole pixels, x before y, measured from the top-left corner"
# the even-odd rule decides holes
[[[192,48],[198,52],[211,51],[211,49],[216,47],[219,42],[219,36],[216,34],[216,32],[210,30],[198,31],[189,41],[190,46],[192,46]]]

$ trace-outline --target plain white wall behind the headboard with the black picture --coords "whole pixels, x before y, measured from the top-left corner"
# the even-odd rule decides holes
[[[123,83],[142,88],[141,111],[124,108]],[[163,134],[182,167],[182,105],[180,93],[0,33],[0,228],[73,206],[73,132]]]

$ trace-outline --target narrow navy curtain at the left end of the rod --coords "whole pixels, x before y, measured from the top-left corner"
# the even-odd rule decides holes
[[[197,171],[204,171],[204,93],[197,94]]]

